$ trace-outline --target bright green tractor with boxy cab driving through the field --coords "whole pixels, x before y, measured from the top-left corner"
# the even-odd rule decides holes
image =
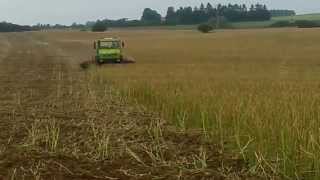
[[[104,38],[94,42],[97,64],[122,63],[124,42],[118,38]]]

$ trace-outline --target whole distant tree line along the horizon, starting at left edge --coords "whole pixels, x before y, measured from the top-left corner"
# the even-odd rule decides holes
[[[201,3],[198,7],[168,7],[165,16],[162,16],[156,10],[145,8],[141,19],[129,20],[127,18],[118,20],[98,20],[88,21],[86,24],[73,23],[66,25],[38,24],[35,26],[20,26],[12,23],[0,23],[0,32],[21,32],[43,29],[106,29],[107,27],[130,27],[130,26],[157,26],[157,25],[191,25],[207,22],[241,22],[241,21],[268,21],[271,17],[292,16],[295,11],[291,10],[268,10],[264,4],[218,4],[213,6],[210,3]],[[103,26],[103,27],[97,27]]]

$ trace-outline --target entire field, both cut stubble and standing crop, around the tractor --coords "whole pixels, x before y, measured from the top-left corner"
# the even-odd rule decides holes
[[[319,179],[319,34],[0,34],[0,179]]]

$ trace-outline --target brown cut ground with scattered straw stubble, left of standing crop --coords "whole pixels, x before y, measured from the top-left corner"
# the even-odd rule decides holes
[[[126,104],[68,49],[0,36],[0,180],[253,179],[201,131]]]

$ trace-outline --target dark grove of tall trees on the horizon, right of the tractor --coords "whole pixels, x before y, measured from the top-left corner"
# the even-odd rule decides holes
[[[271,19],[271,12],[266,5],[255,4],[247,7],[245,4],[218,4],[213,6],[210,3],[199,7],[168,7],[165,17],[162,17],[156,10],[146,8],[140,20],[102,20],[108,27],[118,26],[144,26],[144,25],[189,25],[200,24],[222,18],[230,22],[240,21],[267,21]]]

